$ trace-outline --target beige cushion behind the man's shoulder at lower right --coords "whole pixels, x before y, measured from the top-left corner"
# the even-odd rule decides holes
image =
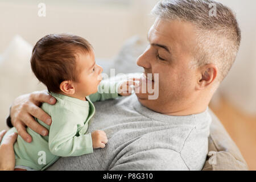
[[[210,111],[212,124],[208,138],[208,157],[203,171],[248,170],[240,150],[226,132],[216,115]]]

